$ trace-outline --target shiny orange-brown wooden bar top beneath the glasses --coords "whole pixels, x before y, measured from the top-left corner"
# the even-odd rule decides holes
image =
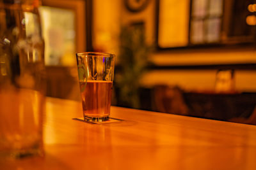
[[[124,121],[88,124],[82,105],[48,97],[44,157],[0,160],[0,169],[256,169],[256,126],[128,108]]]

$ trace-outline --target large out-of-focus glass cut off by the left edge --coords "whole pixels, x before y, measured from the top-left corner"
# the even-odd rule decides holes
[[[44,40],[38,0],[0,0],[0,155],[42,154]]]

